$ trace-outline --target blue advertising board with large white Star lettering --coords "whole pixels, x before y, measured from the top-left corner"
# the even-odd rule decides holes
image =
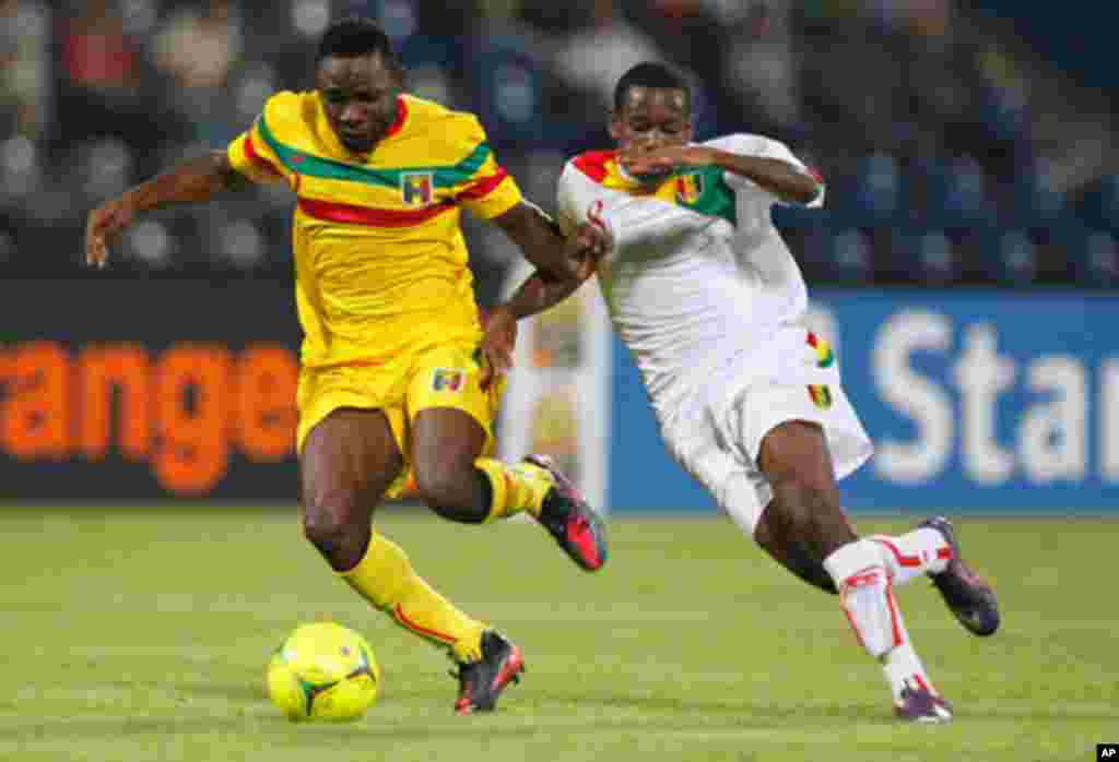
[[[875,457],[855,511],[1119,512],[1119,301],[1069,292],[816,292]],[[613,509],[712,509],[614,352]],[[1112,421],[1109,426],[1107,421]]]

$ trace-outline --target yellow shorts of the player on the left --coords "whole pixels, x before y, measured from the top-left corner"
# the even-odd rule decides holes
[[[477,358],[476,343],[459,341],[379,364],[303,368],[299,374],[297,398],[299,451],[303,451],[303,442],[311,429],[335,410],[382,410],[404,456],[404,469],[385,496],[399,497],[414,484],[410,436],[412,421],[427,408],[455,408],[481,425],[486,431],[482,455],[492,455],[493,419],[505,390],[505,377],[497,379],[488,389],[481,389],[478,385],[481,365]]]

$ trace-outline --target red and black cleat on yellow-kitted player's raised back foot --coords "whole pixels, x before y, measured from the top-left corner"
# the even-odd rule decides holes
[[[529,455],[525,461],[548,472],[554,482],[544,497],[537,521],[583,570],[602,569],[606,562],[606,525],[599,514],[552,458]]]

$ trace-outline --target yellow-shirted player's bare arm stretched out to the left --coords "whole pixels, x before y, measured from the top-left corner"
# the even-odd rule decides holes
[[[207,201],[215,193],[247,184],[224,151],[185,161],[90,212],[85,222],[85,264],[104,267],[107,244],[141,212],[172,203]]]

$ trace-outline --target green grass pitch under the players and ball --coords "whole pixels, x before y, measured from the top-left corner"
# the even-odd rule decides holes
[[[728,521],[620,518],[586,574],[529,522],[394,508],[379,525],[420,573],[525,651],[495,714],[457,717],[450,663],[332,578],[294,513],[0,507],[0,759],[1072,762],[1119,741],[1115,522],[960,520],[1004,627],[975,638],[923,580],[900,591],[957,709],[906,726],[836,599]],[[358,723],[291,724],[264,696],[272,649],[320,617],[382,665]]]

